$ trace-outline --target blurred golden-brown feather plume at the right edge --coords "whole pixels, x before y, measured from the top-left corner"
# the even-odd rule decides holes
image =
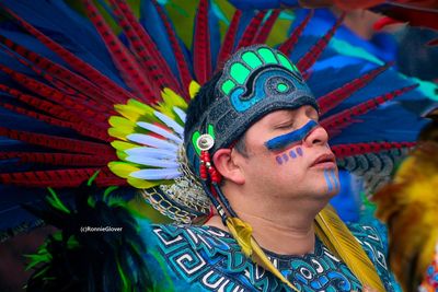
[[[389,225],[390,265],[404,291],[417,291],[438,241],[438,143],[422,142],[373,200]]]

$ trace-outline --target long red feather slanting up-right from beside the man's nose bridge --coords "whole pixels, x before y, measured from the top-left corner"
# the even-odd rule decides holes
[[[328,131],[328,136],[332,137],[336,133],[336,130],[339,128],[345,128],[349,124],[353,122],[353,117],[364,115],[384,102],[388,102],[403,93],[412,91],[413,89],[417,87],[418,85],[411,85],[400,90],[392,91],[390,93],[385,93],[372,100],[366,101],[361,104],[347,108],[338,114],[330,116],[321,121],[321,126]]]

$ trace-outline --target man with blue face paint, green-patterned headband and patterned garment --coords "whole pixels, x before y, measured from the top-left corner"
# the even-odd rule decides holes
[[[350,226],[355,238],[326,208],[339,180],[318,121],[297,68],[265,46],[200,89],[185,150],[216,210],[203,226],[153,227],[176,278],[211,291],[394,290],[376,227]]]

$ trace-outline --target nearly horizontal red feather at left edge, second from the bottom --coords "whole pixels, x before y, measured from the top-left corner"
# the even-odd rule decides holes
[[[117,160],[100,155],[66,154],[66,153],[35,153],[35,152],[1,152],[0,160],[20,159],[21,163],[44,163],[48,165],[69,166],[105,166],[110,161]]]

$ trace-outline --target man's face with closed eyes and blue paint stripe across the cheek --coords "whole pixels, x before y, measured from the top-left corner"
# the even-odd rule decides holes
[[[273,112],[246,131],[241,166],[250,190],[303,199],[338,192],[335,157],[318,120],[318,112],[306,105]]]

